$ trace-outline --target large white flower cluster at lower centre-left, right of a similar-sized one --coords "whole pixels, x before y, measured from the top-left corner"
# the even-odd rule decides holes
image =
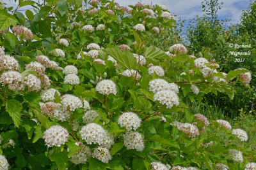
[[[103,127],[95,123],[84,125],[79,134],[89,145],[92,143],[99,145],[108,145],[108,143],[113,143],[113,141],[109,141],[106,138],[108,136],[108,132],[103,129]]]

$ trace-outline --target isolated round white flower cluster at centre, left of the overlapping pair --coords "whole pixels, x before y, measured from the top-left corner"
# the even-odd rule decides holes
[[[102,80],[96,85],[96,91],[100,94],[115,94],[116,95],[116,84],[112,80]]]

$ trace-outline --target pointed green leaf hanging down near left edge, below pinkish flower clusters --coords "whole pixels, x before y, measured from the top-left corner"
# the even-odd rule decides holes
[[[6,102],[6,111],[8,111],[10,117],[12,117],[12,120],[17,127],[19,127],[20,124],[21,109],[22,106],[17,100],[12,99]]]

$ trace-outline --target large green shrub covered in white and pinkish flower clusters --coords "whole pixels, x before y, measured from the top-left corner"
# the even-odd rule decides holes
[[[180,43],[157,48],[149,37],[175,26],[164,5],[17,8],[29,4],[36,15],[1,11],[12,20],[0,34],[1,169],[255,167],[243,129],[185,104],[218,91],[232,99],[230,83],[249,85],[250,71],[221,73]]]

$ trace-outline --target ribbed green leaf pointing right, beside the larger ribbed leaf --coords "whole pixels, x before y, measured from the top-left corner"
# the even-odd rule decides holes
[[[149,46],[145,51],[145,57],[154,59],[170,59],[166,53],[164,53],[156,46]]]

